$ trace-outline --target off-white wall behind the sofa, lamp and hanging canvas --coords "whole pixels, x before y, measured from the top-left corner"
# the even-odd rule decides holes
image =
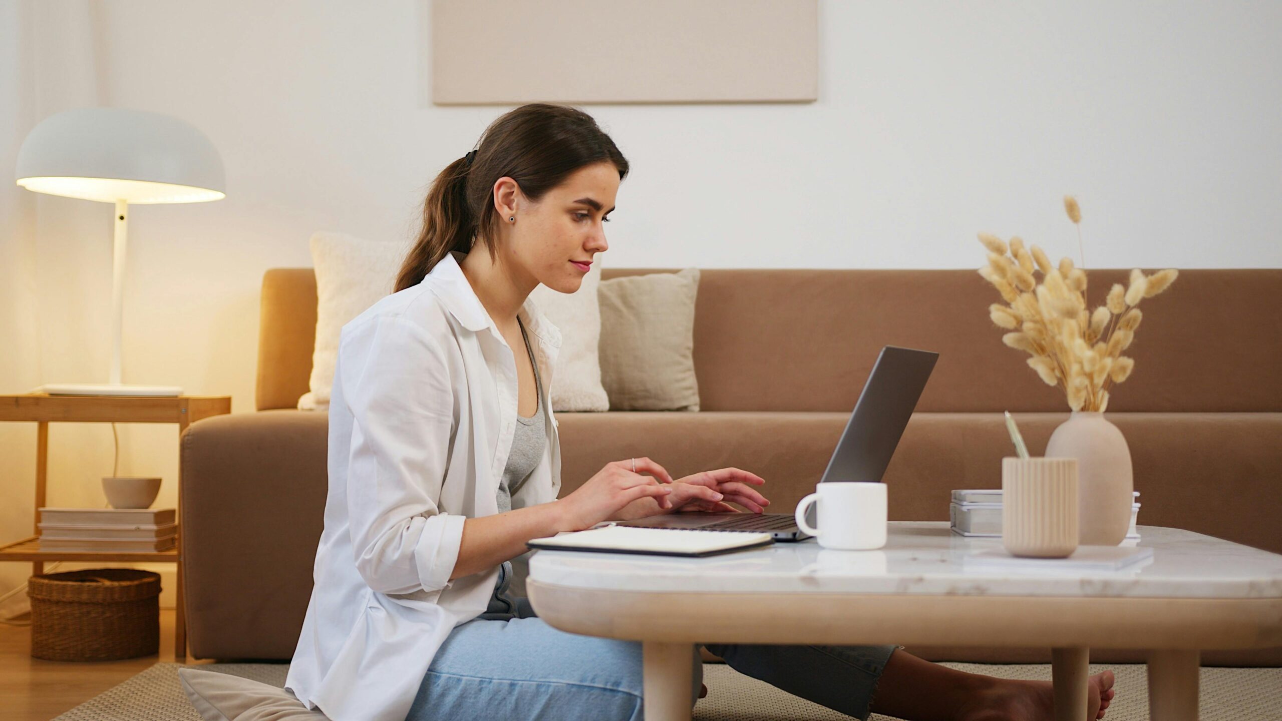
[[[92,4],[96,101],[185,118],[227,165],[226,200],[131,218],[126,382],[251,411],[263,271],[310,266],[317,230],[414,232],[427,183],[506,110],[419,106],[419,4]],[[4,17],[47,23],[49,5],[79,3],[44,5]],[[1278,3],[824,0],[818,103],[585,106],[632,163],[604,263],[976,267],[978,230],[1058,257],[1076,248],[1072,192],[1088,266],[1282,266],[1277,37]],[[76,62],[45,51],[49,67]],[[10,65],[0,87],[31,82]],[[3,108],[26,123],[5,168],[31,124],[65,108],[38,90],[38,112]],[[4,226],[0,258],[23,259],[36,303],[6,308],[0,332],[27,339],[27,360],[0,366],[0,391],[105,380],[110,209],[18,203],[38,203],[40,222]],[[158,504],[174,503],[176,434],[122,427],[121,472],[164,476]],[[4,539],[31,523],[33,443],[0,427]],[[109,427],[54,426],[51,454],[50,504],[100,505]],[[28,570],[0,564],[0,590]]]

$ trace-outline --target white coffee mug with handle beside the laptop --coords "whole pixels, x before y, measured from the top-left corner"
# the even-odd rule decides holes
[[[828,481],[801,499],[795,513],[797,527],[819,539],[819,545],[842,550],[867,550],[886,545],[886,484]],[[819,527],[805,522],[810,503],[817,504]]]

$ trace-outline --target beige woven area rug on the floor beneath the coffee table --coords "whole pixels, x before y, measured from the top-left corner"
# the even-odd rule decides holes
[[[951,668],[1003,679],[1050,679],[1050,665],[1003,666],[945,663]],[[177,663],[156,663],[123,684],[63,713],[56,721],[200,721],[178,684]],[[287,663],[210,663],[210,671],[235,674],[264,684],[285,685]],[[1118,695],[1109,721],[1147,721],[1149,686],[1144,665],[1091,665],[1091,674],[1109,668]],[[708,698],[695,707],[697,721],[827,721],[850,718],[744,676],[724,663],[705,663]],[[1203,668],[1203,721],[1265,721],[1282,718],[1282,668]],[[873,715],[877,721],[891,717]]]

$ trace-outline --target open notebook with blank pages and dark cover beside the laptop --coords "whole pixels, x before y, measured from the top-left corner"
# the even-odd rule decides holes
[[[770,534],[762,532],[605,526],[532,539],[526,545],[546,550],[644,553],[647,556],[715,556],[718,553],[758,548],[772,543],[774,543],[774,538]]]

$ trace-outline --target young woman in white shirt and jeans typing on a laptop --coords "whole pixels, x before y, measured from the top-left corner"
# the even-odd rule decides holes
[[[309,708],[344,721],[641,718],[640,644],[547,626],[509,591],[510,559],[529,539],[605,520],[769,504],[747,471],[672,479],[650,458],[608,463],[558,499],[560,334],[528,295],[578,290],[627,172],[577,109],[506,113],[436,178],[396,293],[344,326],[324,531],[286,680]],[[859,718],[1051,718],[1049,683],[964,674],[901,647],[708,648]],[[1087,720],[1111,685],[1091,676]]]

